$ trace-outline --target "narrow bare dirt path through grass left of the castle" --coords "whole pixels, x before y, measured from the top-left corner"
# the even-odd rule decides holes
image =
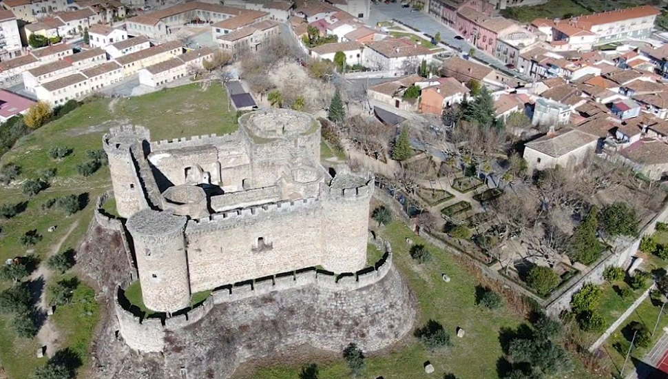
[[[46,311],[49,307],[48,300],[46,298],[46,285],[49,282],[49,278],[51,277],[51,270],[49,269],[48,265],[46,264],[46,261],[50,256],[53,254],[57,254],[59,250],[61,249],[61,246],[63,243],[65,243],[65,240],[67,240],[67,237],[72,234],[72,231],[79,225],[79,220],[74,221],[72,225],[70,226],[70,229],[67,230],[67,233],[56,243],[56,245],[53,246],[51,249],[51,252],[41,261],[39,264],[39,267],[30,275],[30,280],[41,280],[42,283],[44,284],[44,287],[41,291],[41,294],[39,296],[39,304],[37,305],[37,311],[39,314],[46,315]],[[39,341],[40,346],[46,346],[46,354],[48,357],[51,357],[52,354],[56,351],[55,345],[58,341],[58,331],[52,325],[51,318],[48,316],[45,316],[45,321],[39,329],[39,332],[37,333],[37,340]]]

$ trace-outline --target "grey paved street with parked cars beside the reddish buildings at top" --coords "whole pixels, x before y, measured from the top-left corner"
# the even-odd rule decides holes
[[[443,25],[435,18],[426,14],[425,12],[410,12],[410,8],[401,8],[401,4],[397,3],[378,3],[371,5],[371,12],[368,20],[366,21],[368,25],[377,25],[380,21],[390,21],[396,19],[409,25],[411,28],[415,28],[422,33],[430,34],[431,36],[436,35],[437,32],[441,32],[441,41],[443,44],[448,45],[455,49],[461,49],[462,52],[468,52],[473,48],[470,43],[467,41],[455,39],[459,34],[453,29],[448,28],[446,25]],[[517,77],[524,81],[531,81],[528,76],[519,74],[518,72],[508,70],[505,67],[505,63],[499,61],[481,50],[476,51],[475,60],[481,61],[486,65],[490,65],[493,68],[508,74],[510,76]]]

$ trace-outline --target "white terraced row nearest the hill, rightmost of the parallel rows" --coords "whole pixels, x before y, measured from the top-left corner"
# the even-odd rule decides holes
[[[149,87],[158,87],[171,83],[187,76],[192,66],[203,68],[204,61],[212,58],[213,50],[210,48],[190,50],[176,58],[139,70],[139,83],[148,85]]]

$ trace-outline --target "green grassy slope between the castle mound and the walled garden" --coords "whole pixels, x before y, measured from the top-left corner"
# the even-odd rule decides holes
[[[426,360],[436,368],[434,378],[452,373],[457,378],[497,378],[497,360],[503,355],[499,344],[501,327],[517,327],[522,320],[508,309],[486,311],[475,305],[474,278],[459,267],[450,254],[428,245],[434,260],[419,266],[408,255],[406,237],[415,243],[425,243],[399,221],[382,228],[380,235],[390,241],[394,262],[408,285],[413,289],[421,308],[419,324],[433,318],[443,324],[455,346],[436,354],[430,353],[417,339],[409,337],[406,345],[390,354],[368,358],[368,369],[362,378],[410,379],[425,378],[423,364]],[[452,281],[443,283],[441,274],[447,273]],[[417,325],[416,325],[417,326]],[[459,339],[455,329],[462,327],[466,337]],[[299,377],[300,366],[308,361],[290,366],[259,369],[247,378],[293,379]],[[350,378],[344,362],[317,362],[320,378]]]

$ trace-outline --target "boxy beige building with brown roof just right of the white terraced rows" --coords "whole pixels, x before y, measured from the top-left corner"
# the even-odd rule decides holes
[[[279,35],[280,23],[265,20],[221,35],[218,37],[218,46],[221,50],[232,52],[235,55],[256,52]]]

